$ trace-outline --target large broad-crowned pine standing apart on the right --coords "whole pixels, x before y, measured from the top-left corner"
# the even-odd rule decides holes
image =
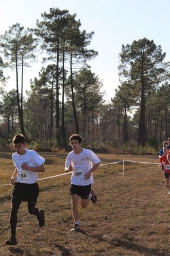
[[[146,101],[156,91],[158,85],[163,80],[168,79],[170,62],[164,62],[165,53],[162,53],[161,46],[156,46],[153,40],[150,41],[147,38],[135,40],[132,45],[122,45],[122,52],[119,57],[121,86],[124,86],[122,79],[124,78],[126,84],[131,87],[131,97],[135,99],[134,103],[131,102],[131,106],[132,104],[140,106],[138,142],[144,147],[147,133]]]

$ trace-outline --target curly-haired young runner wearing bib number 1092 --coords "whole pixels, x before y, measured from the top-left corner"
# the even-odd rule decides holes
[[[97,196],[91,189],[91,184],[93,183],[92,173],[98,168],[101,160],[92,150],[80,147],[82,138],[79,134],[72,134],[69,141],[73,150],[67,156],[65,171],[73,170],[70,196],[75,225],[71,231],[78,231],[80,229],[78,199],[80,197],[80,205],[83,208],[88,205],[90,200],[96,203]]]

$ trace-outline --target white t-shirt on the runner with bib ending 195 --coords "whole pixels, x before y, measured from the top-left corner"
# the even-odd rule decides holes
[[[26,148],[26,152],[24,155],[19,155],[15,152],[12,155],[12,160],[14,165],[17,168],[17,182],[19,183],[27,183],[32,184],[35,183],[38,179],[38,172],[23,170],[21,165],[26,164],[31,167],[41,166],[45,162],[45,158],[38,155],[38,153],[34,150],[29,150]]]

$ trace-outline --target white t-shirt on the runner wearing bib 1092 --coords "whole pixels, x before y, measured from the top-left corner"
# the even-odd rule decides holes
[[[93,183],[93,175],[90,179],[85,180],[85,173],[87,173],[93,166],[101,162],[99,157],[90,149],[82,148],[80,154],[74,154],[73,150],[68,154],[65,166],[71,164],[74,171],[71,175],[71,184],[85,186]]]

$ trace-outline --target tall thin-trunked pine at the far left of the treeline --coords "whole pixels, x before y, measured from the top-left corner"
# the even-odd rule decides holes
[[[29,67],[28,60],[34,61],[34,50],[36,49],[36,40],[30,30],[24,30],[24,27],[19,23],[9,27],[4,36],[0,36],[0,48],[5,57],[6,63],[4,67],[11,68],[16,72],[16,87],[17,87],[17,108],[20,128],[24,136],[23,122],[23,70],[24,67]],[[21,67],[21,86],[19,86],[19,68]],[[20,89],[20,90],[19,90]],[[21,93],[19,93],[21,91]],[[9,119],[9,117],[8,117]],[[13,128],[14,130],[14,128]],[[8,131],[9,133],[9,131]]]

